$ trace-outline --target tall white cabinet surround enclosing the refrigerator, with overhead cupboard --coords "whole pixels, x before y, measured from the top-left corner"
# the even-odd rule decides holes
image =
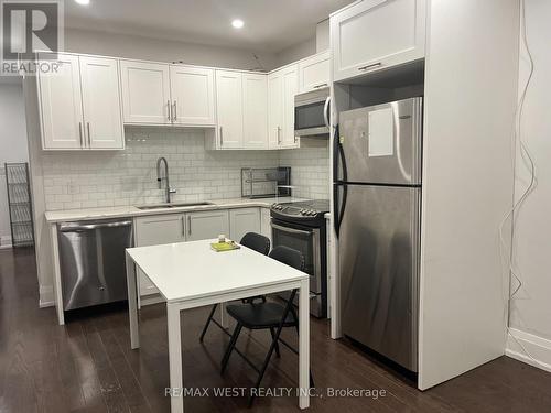
[[[418,385],[425,390],[505,354],[509,251],[499,227],[512,206],[519,0],[363,0],[329,25],[333,126],[343,110],[423,96]],[[336,338],[335,233],[331,244]]]

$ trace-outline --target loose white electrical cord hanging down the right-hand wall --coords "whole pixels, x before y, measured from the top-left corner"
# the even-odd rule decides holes
[[[521,133],[521,121],[522,121],[522,112],[525,109],[525,101],[526,101],[526,96],[528,94],[528,89],[530,87],[533,72],[534,72],[534,63],[532,58],[532,54],[530,52],[530,47],[528,44],[528,35],[527,35],[527,29],[526,29],[526,0],[520,1],[520,12],[521,12],[521,24],[522,24],[522,30],[521,30],[521,36],[522,36],[522,46],[526,50],[526,53],[528,55],[528,61],[529,61],[529,74],[528,78],[525,83],[525,86],[522,87],[522,93],[520,95],[520,99],[518,101],[517,110],[515,113],[516,122],[515,122],[515,131],[512,133],[512,142],[514,145],[512,148],[517,149],[517,142],[519,143],[520,148],[520,157],[522,160],[523,165],[527,167],[528,172],[530,173],[530,183],[523,191],[522,195],[520,198],[515,202],[512,205],[512,208],[507,213],[505,216],[504,220],[501,221],[499,226],[499,240],[501,243],[501,258],[504,258],[504,252],[507,252],[507,242],[505,241],[504,237],[504,228],[509,219],[511,219],[511,233],[510,233],[510,239],[511,239],[511,244],[510,248],[515,248],[515,233],[516,233],[516,214],[518,210],[521,208],[526,199],[530,196],[530,194],[536,189],[536,186],[538,184],[538,178],[536,176],[536,164],[533,162],[533,157],[530,154],[530,151],[528,149],[528,145],[525,143],[522,140],[522,133]],[[515,164],[515,161],[514,161]],[[514,176],[517,177],[517,172],[516,172],[516,166],[514,166]],[[541,366],[544,369],[549,369],[549,366],[545,363],[542,363],[541,361],[537,360],[530,352],[525,348],[525,346],[515,337],[515,335],[511,333],[511,328],[509,326],[510,323],[510,312],[511,312],[511,304],[512,300],[517,295],[517,293],[520,291],[522,287],[522,280],[521,280],[521,274],[520,274],[520,269],[518,265],[516,265],[515,260],[514,260],[514,254],[512,252],[509,254],[509,258],[507,259],[508,262],[508,272],[509,272],[509,296],[507,298],[508,305],[507,305],[507,333],[509,336],[517,343],[517,345],[521,348],[522,352],[536,365]],[[516,287],[511,291],[512,282],[516,282]]]

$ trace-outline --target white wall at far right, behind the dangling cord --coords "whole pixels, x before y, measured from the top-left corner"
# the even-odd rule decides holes
[[[530,356],[551,370],[551,2],[526,0],[528,44],[534,72],[526,97],[521,138],[536,163],[537,186],[517,214],[514,258],[522,287],[511,305],[510,326]],[[527,53],[521,47],[519,88],[529,75]],[[519,93],[520,95],[520,93]],[[515,194],[518,199],[528,186],[530,174],[519,154]],[[517,284],[515,283],[514,286]],[[547,341],[545,341],[547,340]],[[511,356],[532,362],[514,339]],[[542,366],[540,366],[542,367]]]

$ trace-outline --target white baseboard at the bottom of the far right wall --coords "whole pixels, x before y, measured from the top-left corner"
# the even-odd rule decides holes
[[[507,356],[551,372],[551,340],[516,328],[510,328],[509,333]]]

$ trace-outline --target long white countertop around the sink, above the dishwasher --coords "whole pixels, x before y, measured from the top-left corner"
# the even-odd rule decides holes
[[[295,197],[273,197],[273,198],[233,198],[233,199],[209,199],[212,205],[185,206],[175,208],[159,208],[159,209],[139,209],[136,206],[120,206],[120,207],[104,207],[104,208],[86,208],[86,209],[65,209],[65,210],[46,210],[46,221],[50,224],[62,221],[76,221],[88,219],[104,219],[104,218],[126,218],[139,217],[150,215],[164,215],[188,213],[196,210],[213,210],[213,209],[229,209],[229,208],[244,208],[244,207],[261,207],[269,208],[273,203],[289,203],[295,200],[305,200]],[[179,204],[174,202],[173,204]]]

